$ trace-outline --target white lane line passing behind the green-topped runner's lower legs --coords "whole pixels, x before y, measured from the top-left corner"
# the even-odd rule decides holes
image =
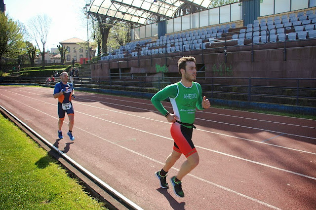
[[[7,96],[5,96],[5,95],[3,95],[3,94],[0,94],[0,95],[2,95],[2,96],[4,96],[4,97],[7,97]],[[20,94],[18,94],[18,95],[20,95]],[[23,96],[23,95],[22,95],[22,96]],[[28,97],[28,96],[24,96],[24,97]],[[10,97],[7,97],[7,98],[9,98],[9,99],[11,99],[11,100],[14,100],[14,99],[12,99],[12,98],[10,98]],[[31,98],[31,97],[28,97],[28,98]],[[37,99],[35,99],[35,100],[37,100]],[[23,103],[21,103],[21,102],[19,102],[19,101],[17,101],[17,100],[14,100],[14,101],[16,101],[16,102],[18,102],[18,103],[20,103],[20,104],[23,104]],[[39,100],[39,101],[40,101],[40,100]],[[47,102],[46,102],[46,104],[50,104],[50,103],[47,103]],[[23,104],[23,105],[25,105],[25,104]],[[53,105],[53,104],[50,104],[50,105]],[[45,112],[43,112],[43,111],[40,111],[39,109],[36,109],[36,108],[34,108],[34,107],[32,107],[32,106],[29,106],[29,105],[26,105],[26,106],[28,106],[28,107],[30,107],[30,108],[32,108],[32,109],[35,109],[36,111],[39,111],[40,113],[46,114],[46,115],[48,115],[48,116],[50,116],[50,117],[52,117],[52,118],[58,120],[56,117],[51,116],[51,115],[49,115],[49,114],[47,114],[47,113],[45,113]],[[57,105],[55,105],[55,106],[57,106]],[[78,112],[78,111],[76,111],[76,112]],[[79,113],[81,113],[81,112],[79,112]],[[84,113],[83,113],[83,114],[84,114]],[[88,115],[88,114],[85,114],[85,115]],[[91,117],[94,117],[94,116],[92,116],[92,115],[90,115],[90,116],[91,116]],[[98,117],[95,117],[95,118],[98,118]],[[101,118],[100,118],[100,119],[101,119]],[[74,126],[74,127],[77,128],[77,129],[79,129],[79,130],[81,130],[81,131],[83,131],[83,132],[88,133],[88,134],[91,135],[91,136],[95,136],[95,137],[97,137],[97,138],[99,138],[99,139],[101,139],[101,140],[105,140],[105,141],[107,141],[107,142],[109,142],[109,143],[111,143],[111,144],[114,144],[114,145],[116,145],[116,146],[118,146],[118,147],[120,147],[120,148],[122,148],[122,149],[125,149],[125,150],[127,150],[127,151],[129,151],[129,152],[132,152],[132,153],[134,153],[134,154],[136,154],[136,155],[139,155],[139,156],[141,156],[141,157],[143,157],[143,158],[146,158],[146,159],[148,159],[148,160],[151,160],[151,161],[153,161],[153,162],[155,162],[155,163],[158,163],[158,164],[160,164],[160,165],[162,165],[162,166],[164,165],[164,163],[162,163],[162,162],[160,162],[160,161],[158,161],[158,160],[156,160],[156,159],[153,159],[153,158],[151,158],[151,157],[148,157],[148,156],[146,156],[146,155],[143,155],[143,154],[141,154],[141,153],[138,153],[138,152],[136,152],[136,151],[134,151],[134,150],[131,150],[131,149],[127,148],[127,147],[121,146],[121,145],[119,145],[119,144],[117,144],[117,143],[115,143],[115,142],[113,142],[113,141],[111,141],[111,140],[104,139],[104,138],[102,138],[102,137],[100,137],[100,136],[98,136],[98,135],[96,135],[96,134],[90,133],[90,132],[88,132],[88,131],[86,131],[86,130],[84,130],[84,129],[81,129],[81,128],[77,127],[77,126]],[[137,129],[136,129],[136,130],[137,130]],[[156,136],[159,136],[159,135],[156,135]],[[176,171],[179,171],[179,169],[177,169],[177,168],[175,168],[175,167],[172,167],[172,169],[174,169],[174,170],[176,170]],[[248,199],[248,200],[251,200],[251,201],[253,201],[253,202],[256,202],[256,203],[258,203],[258,204],[264,205],[264,206],[269,207],[269,208],[272,208],[272,209],[280,210],[279,208],[277,208],[277,207],[275,207],[275,206],[272,206],[272,205],[270,205],[270,204],[267,204],[267,203],[265,203],[265,202],[263,202],[263,201],[260,201],[260,200],[255,199],[255,198],[249,197],[249,196],[244,195],[244,194],[242,194],[242,193],[238,193],[238,192],[235,191],[235,190],[232,190],[232,189],[229,189],[229,188],[227,188],[227,187],[221,186],[221,185],[219,185],[219,184],[210,182],[210,181],[208,181],[208,180],[205,180],[205,179],[203,179],[203,178],[200,178],[200,177],[195,176],[195,175],[192,175],[192,174],[188,174],[188,175],[190,175],[190,176],[192,176],[192,177],[194,177],[194,178],[197,178],[197,179],[200,180],[200,181],[203,181],[203,182],[205,182],[205,183],[208,183],[208,184],[211,184],[211,185],[213,185],[213,186],[216,186],[216,187],[218,187],[218,188],[220,188],[220,189],[223,189],[223,190],[225,190],[225,191],[231,192],[231,193],[233,193],[233,194],[236,194],[236,195],[238,195],[238,196],[241,196],[241,197],[243,197],[243,198],[246,198],[246,199]],[[101,179],[100,179],[100,180],[101,180]]]

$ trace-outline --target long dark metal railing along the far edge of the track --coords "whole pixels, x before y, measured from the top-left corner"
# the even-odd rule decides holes
[[[157,93],[181,77],[129,76],[74,78],[74,87]],[[0,77],[0,84],[47,84],[46,77]],[[197,77],[210,99],[316,107],[316,78]]]

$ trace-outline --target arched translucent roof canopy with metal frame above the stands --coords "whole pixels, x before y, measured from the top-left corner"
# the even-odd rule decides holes
[[[212,0],[93,0],[89,13],[113,17],[120,21],[144,25],[157,16],[172,18],[183,3],[208,8]]]

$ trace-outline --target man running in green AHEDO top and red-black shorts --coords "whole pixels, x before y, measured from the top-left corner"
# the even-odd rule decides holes
[[[197,150],[191,140],[193,128],[196,128],[193,125],[196,107],[203,110],[211,105],[208,99],[205,99],[205,96],[202,98],[200,84],[194,82],[197,78],[196,59],[194,57],[180,58],[178,70],[181,81],[166,86],[153,96],[151,101],[158,111],[167,118],[168,122],[172,123],[170,132],[174,140],[173,150],[167,157],[162,169],[156,172],[156,177],[160,180],[160,186],[168,189],[166,174],[181,154],[184,154],[187,160],[182,164],[178,174],[170,179],[175,194],[184,197],[181,180],[197,166],[199,161]],[[161,104],[161,101],[167,98],[170,99],[173,114],[168,112]]]

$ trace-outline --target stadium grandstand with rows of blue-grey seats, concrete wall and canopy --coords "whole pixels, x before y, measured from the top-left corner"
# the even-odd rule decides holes
[[[90,14],[137,26],[131,42],[91,66],[92,76],[176,76],[178,58],[190,55],[201,77],[315,77],[316,0],[243,0],[215,8],[211,0],[135,2],[92,2]],[[184,4],[195,12],[178,12]]]

